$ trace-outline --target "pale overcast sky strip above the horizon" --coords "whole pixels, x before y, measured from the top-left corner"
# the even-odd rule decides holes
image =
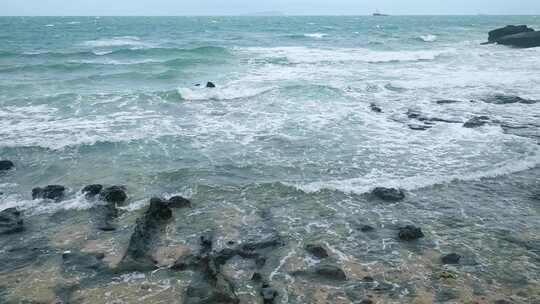
[[[0,15],[539,14],[540,0],[0,0]]]

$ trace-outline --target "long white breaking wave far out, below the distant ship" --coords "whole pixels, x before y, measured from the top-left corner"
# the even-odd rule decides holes
[[[238,48],[263,58],[287,58],[289,63],[347,63],[367,62],[385,63],[402,61],[431,61],[437,57],[454,53],[455,49],[420,50],[420,51],[375,51],[365,48],[308,48],[308,47],[273,47],[273,48]]]

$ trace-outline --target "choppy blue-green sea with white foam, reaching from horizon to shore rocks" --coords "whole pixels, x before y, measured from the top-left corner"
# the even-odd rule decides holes
[[[460,299],[476,299],[469,280],[538,299],[538,251],[500,242],[538,241],[540,103],[483,101],[540,100],[540,48],[480,45],[507,24],[540,29],[540,17],[2,17],[0,158],[16,170],[0,175],[0,210],[84,222],[94,203],[83,186],[125,185],[129,235],[150,197],[181,194],[200,207],[177,232],[188,243],[210,228],[221,240],[262,233],[255,215],[268,211],[289,244],[269,262],[281,303],[316,303],[284,270],[307,240],[335,249],[352,276],[354,262],[402,279],[425,279],[422,261],[466,248],[477,266],[456,270]],[[459,102],[437,103],[447,99]],[[452,122],[413,130],[423,123],[411,111]],[[491,123],[463,127],[480,115]],[[67,186],[66,200],[32,201],[48,184]],[[369,202],[377,186],[409,191],[408,210]],[[351,232],[358,221],[381,237]],[[401,222],[427,231],[423,258],[393,241]],[[509,257],[525,283],[506,272]],[[403,288],[389,297],[440,289],[422,278],[391,282]]]

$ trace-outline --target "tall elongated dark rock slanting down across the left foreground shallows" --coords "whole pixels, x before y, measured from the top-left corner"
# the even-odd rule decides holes
[[[121,271],[151,270],[156,267],[157,262],[152,256],[154,245],[165,232],[171,218],[172,211],[166,201],[159,198],[150,200],[150,206],[144,215],[137,219],[128,248],[119,265]]]

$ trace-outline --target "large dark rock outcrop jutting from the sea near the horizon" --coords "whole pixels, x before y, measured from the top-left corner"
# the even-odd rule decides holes
[[[540,31],[526,25],[508,25],[489,32],[488,43],[497,43],[519,48],[540,46]]]

